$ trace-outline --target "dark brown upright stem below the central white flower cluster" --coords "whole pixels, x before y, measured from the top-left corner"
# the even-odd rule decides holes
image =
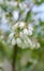
[[[14,48],[13,48],[12,71],[16,71],[16,68],[15,68],[16,58],[17,58],[17,45],[15,45]]]

